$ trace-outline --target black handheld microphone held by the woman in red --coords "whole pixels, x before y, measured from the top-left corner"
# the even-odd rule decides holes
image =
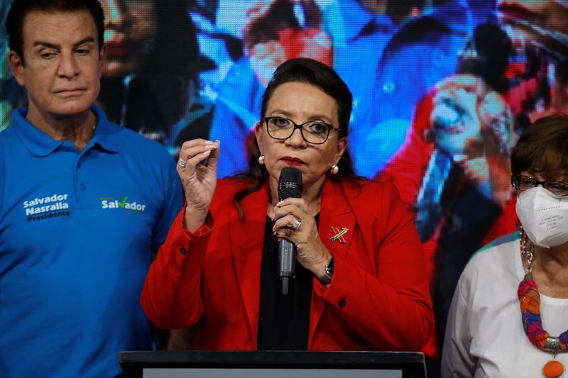
[[[278,200],[302,197],[302,172],[294,167],[285,167],[278,179]],[[278,277],[282,278],[282,294],[288,295],[288,283],[294,278],[296,246],[288,239],[278,239]]]

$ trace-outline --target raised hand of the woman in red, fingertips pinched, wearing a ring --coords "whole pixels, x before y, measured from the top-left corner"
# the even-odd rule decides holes
[[[178,174],[185,192],[184,226],[194,232],[207,218],[209,205],[217,185],[219,140],[193,139],[183,143],[178,161]]]

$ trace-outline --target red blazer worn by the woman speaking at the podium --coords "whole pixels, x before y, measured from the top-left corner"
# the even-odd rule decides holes
[[[434,320],[420,239],[392,184],[322,188],[319,232],[334,255],[329,288],[314,277],[309,350],[420,350]],[[247,184],[220,179],[202,228],[182,228],[184,211],[151,265],[141,304],[159,328],[199,324],[195,349],[256,350],[268,184],[242,201]],[[346,243],[332,227],[349,228]]]

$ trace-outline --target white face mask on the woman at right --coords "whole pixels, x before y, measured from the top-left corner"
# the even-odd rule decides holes
[[[532,243],[550,248],[568,242],[568,196],[555,196],[535,187],[519,193],[516,209]]]

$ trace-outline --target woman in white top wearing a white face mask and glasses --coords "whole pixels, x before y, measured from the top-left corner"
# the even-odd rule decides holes
[[[442,377],[562,377],[568,368],[568,115],[529,126],[510,165],[519,233],[461,274]]]

